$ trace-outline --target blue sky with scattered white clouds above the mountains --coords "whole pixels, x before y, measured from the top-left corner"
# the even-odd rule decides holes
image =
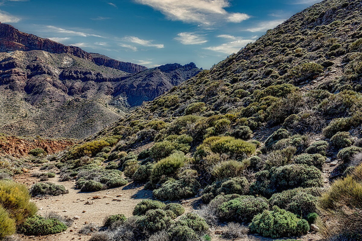
[[[20,31],[149,68],[213,64],[318,0],[0,0]]]

